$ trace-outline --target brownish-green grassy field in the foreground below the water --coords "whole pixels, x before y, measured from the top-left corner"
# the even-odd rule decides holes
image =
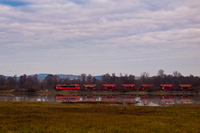
[[[200,132],[200,105],[0,102],[0,132]]]

